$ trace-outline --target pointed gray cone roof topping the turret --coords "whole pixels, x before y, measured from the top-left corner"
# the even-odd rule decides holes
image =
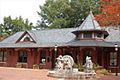
[[[86,17],[86,19],[83,21],[83,23],[79,26],[79,30],[101,30],[100,25],[95,20],[95,17],[93,16],[92,11],[90,11],[90,14]]]

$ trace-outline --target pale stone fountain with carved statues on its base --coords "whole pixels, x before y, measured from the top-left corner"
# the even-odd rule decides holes
[[[86,57],[85,70],[84,72],[78,71],[78,69],[72,68],[74,60],[69,55],[59,55],[57,58],[55,69],[48,72],[48,76],[65,79],[87,79],[94,78],[96,73],[92,69],[93,63],[91,57]]]

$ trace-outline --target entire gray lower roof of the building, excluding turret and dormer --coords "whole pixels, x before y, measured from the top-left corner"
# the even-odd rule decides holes
[[[114,44],[120,45],[120,33],[118,29],[107,28],[110,34],[105,41],[92,41],[92,40],[75,40],[75,35],[72,34],[77,28],[68,29],[53,29],[53,30],[40,30],[40,31],[28,31],[32,38],[36,41],[33,42],[18,42],[15,43],[23,32],[18,32],[2,42],[0,42],[0,48],[13,48],[13,47],[54,47],[58,46],[103,46],[114,47]]]

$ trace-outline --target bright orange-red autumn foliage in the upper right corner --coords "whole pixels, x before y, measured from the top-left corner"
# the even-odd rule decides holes
[[[96,20],[101,26],[120,25],[120,0],[100,0],[101,13],[96,15]]]

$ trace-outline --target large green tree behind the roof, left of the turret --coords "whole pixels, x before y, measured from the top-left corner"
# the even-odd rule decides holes
[[[97,0],[46,0],[40,6],[38,15],[41,20],[37,27],[40,28],[71,28],[78,27],[89,14],[90,9],[98,13]]]

